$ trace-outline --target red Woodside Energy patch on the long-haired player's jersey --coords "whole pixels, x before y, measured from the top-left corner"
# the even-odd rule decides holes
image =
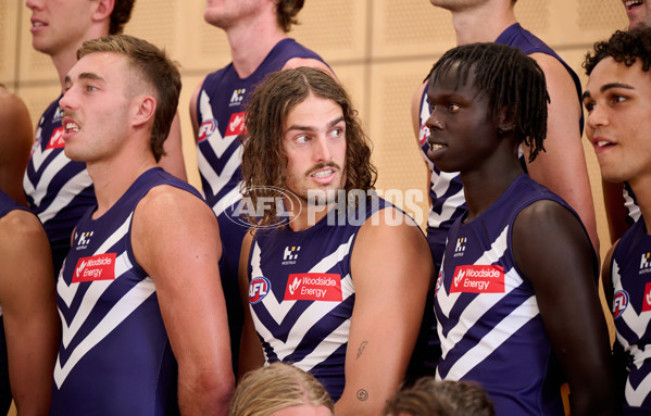
[[[341,302],[341,275],[336,273],[297,273],[289,275],[285,301]]]

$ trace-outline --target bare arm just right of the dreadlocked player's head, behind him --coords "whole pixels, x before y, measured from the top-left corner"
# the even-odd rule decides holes
[[[594,202],[588,178],[586,155],[579,129],[580,103],[576,87],[565,67],[544,53],[530,55],[544,72],[551,99],[548,106],[546,152],[527,168],[531,178],[563,198],[576,211],[588,230],[594,251],[599,253]],[[525,155],[529,150],[525,149]]]

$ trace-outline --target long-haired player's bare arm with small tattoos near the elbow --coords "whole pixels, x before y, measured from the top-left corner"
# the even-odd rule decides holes
[[[391,214],[402,224],[387,224]],[[337,416],[378,415],[404,378],[434,275],[425,238],[404,219],[385,209],[356,237],[351,254],[355,303]]]

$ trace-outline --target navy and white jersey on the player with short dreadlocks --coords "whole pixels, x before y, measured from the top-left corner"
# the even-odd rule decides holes
[[[579,220],[560,197],[519,175],[473,222],[454,222],[436,283],[437,378],[478,381],[498,415],[564,415],[564,376],[512,251],[516,216],[539,200],[560,203]]]

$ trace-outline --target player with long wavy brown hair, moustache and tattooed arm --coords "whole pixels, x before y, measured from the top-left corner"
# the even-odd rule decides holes
[[[374,193],[367,138],[328,74],[272,74],[247,112],[243,191],[265,209],[240,256],[240,373],[291,363],[325,387],[337,415],[377,415],[416,342],[434,277],[427,241]]]

